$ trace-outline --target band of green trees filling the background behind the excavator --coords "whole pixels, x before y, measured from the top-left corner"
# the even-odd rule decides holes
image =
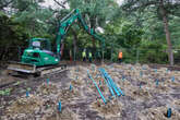
[[[125,62],[173,64],[180,48],[179,0],[51,0],[56,7],[44,7],[46,0],[0,0],[1,48],[25,47],[26,39],[45,37],[56,45],[60,20],[79,9],[91,28],[105,38],[105,58],[117,60],[123,50]],[[100,43],[74,23],[65,37],[64,58],[69,50],[80,57],[81,50],[96,55]],[[8,50],[7,50],[8,52]],[[0,59],[4,57],[0,50]],[[76,57],[76,58],[77,58]]]

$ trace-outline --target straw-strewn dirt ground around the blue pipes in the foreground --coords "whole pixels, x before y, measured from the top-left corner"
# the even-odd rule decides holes
[[[124,96],[111,96],[99,68],[106,70]],[[65,72],[32,80],[5,76],[3,72],[0,120],[180,120],[180,71],[146,64],[81,63],[69,65]],[[12,84],[4,85],[5,82]],[[167,118],[168,108],[172,109],[171,118]]]

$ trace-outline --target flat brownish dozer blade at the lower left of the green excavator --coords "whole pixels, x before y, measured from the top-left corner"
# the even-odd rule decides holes
[[[8,70],[23,73],[36,73],[36,65],[22,62],[10,62]]]

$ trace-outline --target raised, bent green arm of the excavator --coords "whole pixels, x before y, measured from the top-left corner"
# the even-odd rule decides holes
[[[105,46],[105,40],[101,37],[99,37],[93,28],[89,28],[87,26],[87,24],[85,23],[85,21],[82,17],[80,11],[77,9],[74,9],[73,11],[71,11],[71,13],[69,13],[65,17],[63,17],[60,21],[60,27],[59,27],[58,37],[57,37],[57,55],[58,55],[59,59],[60,59],[61,41],[64,39],[69,27],[76,20],[81,23],[81,25],[84,27],[84,29],[87,32],[87,34],[92,35],[95,39],[100,40],[103,43],[103,47]]]

